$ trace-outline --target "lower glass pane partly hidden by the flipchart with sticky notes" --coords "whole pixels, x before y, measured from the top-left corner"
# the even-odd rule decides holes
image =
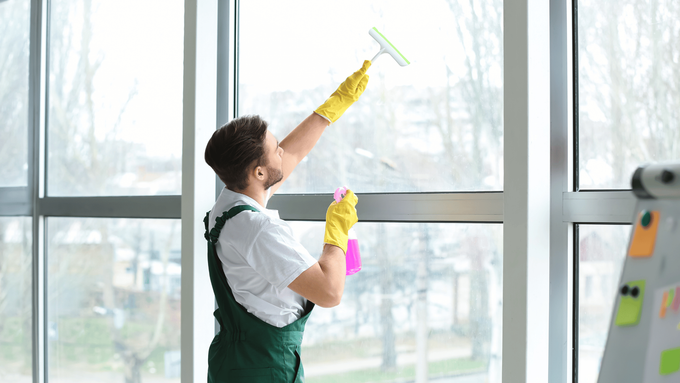
[[[597,382],[630,228],[579,225],[579,383]]]

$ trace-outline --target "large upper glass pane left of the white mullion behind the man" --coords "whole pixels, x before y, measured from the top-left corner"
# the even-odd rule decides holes
[[[50,2],[49,195],[180,194],[183,4]]]

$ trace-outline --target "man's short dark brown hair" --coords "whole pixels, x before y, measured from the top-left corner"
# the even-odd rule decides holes
[[[217,129],[208,141],[205,162],[229,189],[247,188],[248,172],[267,165],[264,146],[267,126],[260,116],[239,117]]]

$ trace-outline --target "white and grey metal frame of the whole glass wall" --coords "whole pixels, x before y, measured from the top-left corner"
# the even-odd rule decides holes
[[[574,283],[578,280],[577,225],[630,224],[636,199],[630,190],[579,191],[578,4],[577,0],[542,3],[505,0],[503,5],[504,145],[521,152],[513,157],[508,154],[510,151],[505,151],[504,190],[371,193],[360,197],[367,202],[362,207],[362,219],[372,222],[503,224],[503,253],[508,260],[504,262],[503,349],[507,352],[503,356],[507,363],[503,364],[503,378],[526,381],[538,376],[546,378],[544,381],[549,377],[551,382],[566,383],[578,379],[578,321],[574,320],[578,315],[578,284]],[[235,15],[238,5],[238,0],[185,0],[182,195],[45,197],[45,124],[49,117],[46,112],[45,79],[49,73],[46,36],[50,1],[31,0],[29,132],[26,138],[29,142],[28,186],[0,188],[0,216],[32,217],[34,381],[47,381],[46,217],[181,219],[182,252],[205,252],[202,216],[210,209],[216,192],[223,185],[203,164],[202,148],[206,137],[220,122],[236,116],[238,18]],[[548,44],[549,49],[546,49]],[[529,66],[529,55],[545,64],[548,73],[530,72],[529,68],[536,68]],[[538,80],[548,79],[546,75],[550,86],[537,85]],[[546,95],[548,97],[544,97]],[[536,105],[546,102],[537,97],[549,100],[547,116],[536,111]],[[518,100],[511,104],[512,98]],[[510,105],[520,108],[511,109]],[[518,123],[521,119],[525,119],[524,122]],[[534,124],[546,122],[550,125],[548,137],[534,129]],[[510,137],[513,135],[518,137]],[[550,148],[547,152],[532,153],[549,164],[547,172],[545,167],[532,167],[528,162],[529,139],[538,139]],[[520,162],[513,163],[517,159]],[[545,180],[546,175],[550,179],[547,188],[538,183],[541,177]],[[529,200],[528,195],[537,195],[538,199]],[[276,195],[270,203],[272,208],[281,210],[284,219],[322,221],[325,201],[329,197],[330,194]],[[301,201],[308,209],[295,209]],[[400,206],[401,210],[391,206]],[[549,225],[547,229],[536,228],[535,222]],[[540,235],[549,239],[547,244],[537,239]],[[538,256],[533,253],[537,250],[549,255]],[[200,356],[207,350],[210,336],[206,337],[206,334],[212,333],[210,327],[214,324],[209,315],[197,314],[210,312],[214,305],[212,300],[201,296],[206,291],[210,294],[209,283],[205,281],[207,270],[202,269],[203,258],[183,257],[182,260],[182,381],[186,382],[204,379],[207,362]],[[532,263],[534,261],[538,263]],[[546,271],[549,278],[540,277]],[[510,281],[519,282],[519,285],[512,286]],[[528,293],[536,287],[545,288],[546,292],[537,297],[530,296]],[[546,297],[549,310],[536,311],[538,303],[545,305],[538,299]],[[547,336],[548,342],[529,334],[530,318],[534,315],[541,324],[539,334]],[[548,318],[552,320],[548,321]],[[205,326],[209,327],[207,332],[202,328],[206,323],[209,324]],[[512,360],[511,349],[517,355]],[[545,369],[532,372],[528,362],[535,354],[544,355],[539,359],[545,358],[549,363]]]

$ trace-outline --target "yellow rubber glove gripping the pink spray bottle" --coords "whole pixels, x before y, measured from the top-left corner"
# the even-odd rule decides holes
[[[347,239],[349,229],[359,221],[357,218],[356,204],[359,201],[354,193],[347,189],[345,198],[340,202],[331,203],[326,211],[326,233],[323,242],[337,246],[347,252]]]

